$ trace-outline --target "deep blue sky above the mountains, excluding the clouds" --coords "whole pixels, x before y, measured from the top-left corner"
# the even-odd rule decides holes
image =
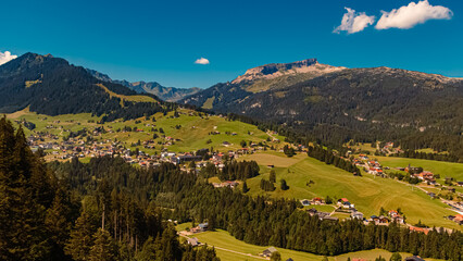
[[[418,0],[7,0],[1,3],[0,52],[52,53],[115,79],[176,87],[205,88],[253,66],[308,58],[463,77],[463,1],[428,0],[433,10],[441,5],[451,12],[446,16],[440,10],[439,16],[428,10],[428,16],[437,15],[429,18],[426,13],[409,17],[422,10],[403,10],[410,12],[376,28],[381,10],[411,2]],[[345,8],[355,23],[335,32],[348,13]],[[195,64],[200,58],[210,63]]]

